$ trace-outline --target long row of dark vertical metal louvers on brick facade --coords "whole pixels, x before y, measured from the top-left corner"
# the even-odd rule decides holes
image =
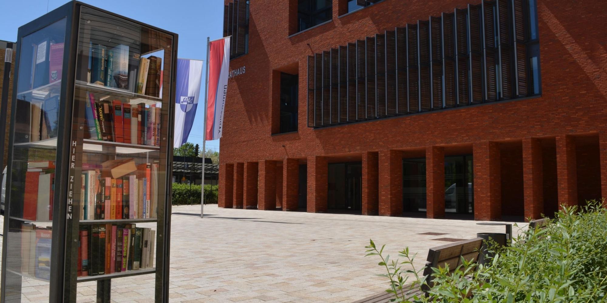
[[[309,56],[308,126],[527,96],[526,5],[484,0]]]

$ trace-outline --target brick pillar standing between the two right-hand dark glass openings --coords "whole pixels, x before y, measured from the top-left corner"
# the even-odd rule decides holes
[[[445,218],[445,149],[426,148],[426,216]]]

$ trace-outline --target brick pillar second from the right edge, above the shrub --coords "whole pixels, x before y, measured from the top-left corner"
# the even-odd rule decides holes
[[[577,163],[572,136],[557,137],[558,207],[577,205]]]

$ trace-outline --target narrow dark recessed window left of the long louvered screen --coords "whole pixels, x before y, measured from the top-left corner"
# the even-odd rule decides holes
[[[280,133],[297,132],[298,78],[280,73]]]

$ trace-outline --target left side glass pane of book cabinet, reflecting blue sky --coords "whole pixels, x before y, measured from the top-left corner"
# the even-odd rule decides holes
[[[21,39],[5,235],[9,302],[49,302],[65,32],[66,19],[61,19]]]

